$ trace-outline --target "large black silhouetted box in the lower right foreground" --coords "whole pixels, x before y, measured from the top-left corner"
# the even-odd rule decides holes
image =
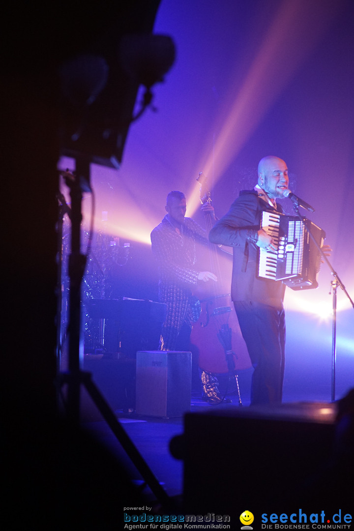
[[[186,511],[234,513],[239,523],[245,510],[295,512],[309,501],[312,512],[321,503],[329,507],[338,489],[326,484],[335,414],[334,405],[305,403],[187,413],[175,441],[184,459]],[[327,494],[318,500],[321,485]]]

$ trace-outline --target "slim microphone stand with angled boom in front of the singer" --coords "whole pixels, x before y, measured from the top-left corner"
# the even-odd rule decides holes
[[[331,271],[331,275],[333,276],[333,280],[331,281],[332,286],[332,293],[333,293],[333,318],[332,318],[332,392],[331,392],[331,401],[335,401],[335,366],[336,366],[336,314],[337,314],[337,288],[338,286],[343,290],[343,292],[347,295],[350,304],[352,305],[354,309],[354,302],[350,298],[349,293],[346,290],[346,287],[344,286],[343,282],[339,278],[339,275],[336,271],[334,271],[330,261],[327,259],[327,256],[324,254],[323,250],[321,249],[321,246],[317,243],[315,237],[313,236],[309,225],[307,224],[308,219],[306,216],[302,216],[299,212],[299,203],[298,201],[291,199],[293,202],[293,209],[296,212],[296,215],[299,217],[299,219],[303,222],[305,225],[305,228],[310,235],[310,238],[315,243],[318,251],[321,253],[322,258],[324,262],[328,265]],[[300,205],[301,206],[301,205]],[[331,293],[331,292],[330,292]]]

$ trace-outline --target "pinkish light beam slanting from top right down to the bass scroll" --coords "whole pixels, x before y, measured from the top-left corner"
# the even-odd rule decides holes
[[[318,45],[340,3],[285,0],[264,33],[262,45],[237,91],[226,106],[216,142],[208,139],[204,156],[195,168],[217,182],[249,139],[267,110],[286,88],[296,71]],[[252,38],[252,37],[251,37]],[[232,90],[230,91],[232,92]],[[214,135],[214,130],[211,135]],[[210,141],[211,140],[211,141]],[[210,146],[213,145],[213,149]],[[198,208],[197,191],[188,194],[189,208]],[[192,213],[193,213],[192,212]]]

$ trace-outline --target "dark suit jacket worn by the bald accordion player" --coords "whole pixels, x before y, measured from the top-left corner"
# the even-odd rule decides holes
[[[212,243],[234,249],[232,301],[254,301],[281,308],[284,284],[280,280],[257,277],[258,247],[252,237],[260,228],[264,210],[274,208],[259,198],[255,190],[241,191],[227,214],[211,229],[209,239]],[[277,211],[283,212],[280,205],[277,205]]]

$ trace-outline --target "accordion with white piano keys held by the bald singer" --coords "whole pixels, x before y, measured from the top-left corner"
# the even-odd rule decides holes
[[[322,247],[325,233],[312,221],[306,225],[296,216],[262,213],[261,228],[272,236],[277,251],[258,250],[258,277],[281,280],[291,289],[317,288],[321,253],[316,243]]]

